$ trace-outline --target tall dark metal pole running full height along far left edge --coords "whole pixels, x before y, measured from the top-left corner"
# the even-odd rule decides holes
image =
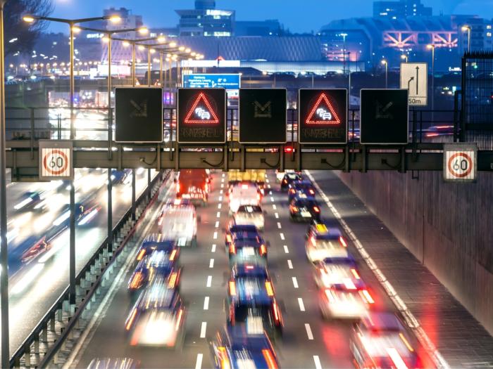
[[[0,1],[0,304],[1,304],[1,367],[9,368],[8,341],[8,247],[7,247],[7,185],[5,157],[5,58],[4,5]]]

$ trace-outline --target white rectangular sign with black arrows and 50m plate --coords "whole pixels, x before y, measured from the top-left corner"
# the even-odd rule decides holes
[[[428,64],[401,63],[401,89],[408,90],[409,106],[428,105]]]

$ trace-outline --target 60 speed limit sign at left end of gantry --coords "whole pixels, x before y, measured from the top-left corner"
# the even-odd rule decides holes
[[[73,179],[71,141],[39,141],[39,179]]]

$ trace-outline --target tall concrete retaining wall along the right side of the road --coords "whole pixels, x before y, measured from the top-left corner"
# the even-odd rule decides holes
[[[339,177],[493,335],[493,174],[470,184],[433,171]]]

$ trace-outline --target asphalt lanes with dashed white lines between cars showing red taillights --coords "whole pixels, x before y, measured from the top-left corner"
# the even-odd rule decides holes
[[[312,171],[313,179],[321,173]],[[289,220],[287,194],[280,191],[274,171],[268,171],[266,195],[262,207],[266,214],[264,238],[270,242],[268,270],[285,322],[282,339],[273,342],[282,368],[354,368],[349,349],[351,323],[324,321],[318,308],[317,287],[313,282],[313,265],[306,258],[306,224]],[[208,341],[226,323],[227,280],[230,267],[225,253],[224,228],[228,214],[227,176],[213,174],[213,192],[206,207],[198,207],[201,222],[198,247],[182,248],[183,266],[180,294],[187,306],[186,337],[177,351],[130,347],[125,338],[125,319],[131,308],[127,281],[132,266],[125,266],[123,278],[113,284],[114,295],[94,318],[84,341],[73,350],[70,368],[86,368],[93,358],[131,357],[139,368],[211,368]],[[323,190],[323,187],[321,188]],[[169,194],[173,198],[173,193]],[[323,219],[330,226],[340,228],[334,214],[317,194]],[[162,205],[162,204],[161,204]],[[151,212],[158,211],[156,205]],[[156,224],[149,224],[145,233],[157,232]],[[140,235],[141,238],[145,234]],[[380,287],[373,272],[361,261],[354,245],[349,250],[358,261],[363,280],[375,299],[375,310],[395,311],[387,294]],[[412,334],[412,333],[411,333]],[[423,348],[416,347],[427,368],[432,367]]]

